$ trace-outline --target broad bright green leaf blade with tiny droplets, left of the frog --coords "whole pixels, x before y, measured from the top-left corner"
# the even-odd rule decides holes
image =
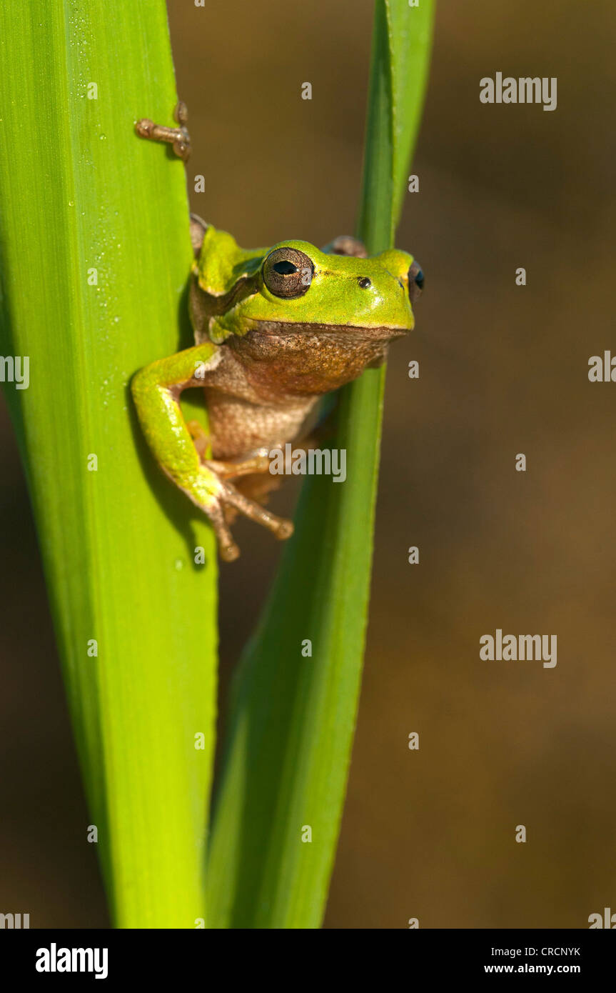
[[[31,364],[30,387],[6,394],[112,915],[193,927],[205,916],[215,549],[152,465],[128,390],[187,330],[183,165],[134,133],[140,116],[172,122],[165,3],[9,0],[0,62],[1,347]]]

